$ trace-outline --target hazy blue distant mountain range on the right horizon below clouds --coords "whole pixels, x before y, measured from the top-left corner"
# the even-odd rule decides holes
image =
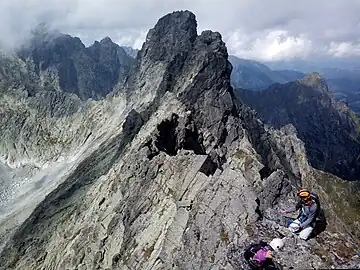
[[[344,101],[354,112],[360,114],[360,66],[342,62],[316,64],[307,61],[279,61],[260,63],[254,60],[230,56],[233,65],[231,82],[235,88],[264,90],[272,84],[287,83],[318,72],[331,88],[335,99]],[[329,66],[322,66],[329,64]]]

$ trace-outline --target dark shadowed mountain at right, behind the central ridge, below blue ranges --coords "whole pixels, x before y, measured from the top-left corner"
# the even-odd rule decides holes
[[[276,128],[293,124],[315,168],[349,180],[360,179],[359,122],[343,103],[332,98],[319,74],[259,93],[239,90],[238,94],[266,123]]]

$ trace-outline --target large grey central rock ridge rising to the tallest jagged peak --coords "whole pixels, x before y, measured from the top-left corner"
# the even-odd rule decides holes
[[[60,184],[16,216],[1,269],[239,269],[250,241],[287,233],[264,214],[291,203],[304,179],[316,183],[304,146],[293,127],[268,129],[235,98],[221,35],[196,27],[189,11],[162,17],[126,84],[73,114],[79,127],[94,123],[92,135],[68,152]],[[352,254],[341,224],[344,235],[323,246],[346,239]],[[293,241],[277,257],[286,267],[333,265]]]

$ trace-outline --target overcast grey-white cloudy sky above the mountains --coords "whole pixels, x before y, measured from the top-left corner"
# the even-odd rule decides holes
[[[239,57],[360,55],[360,0],[0,0],[0,40],[19,44],[45,21],[86,45],[110,36],[140,48],[157,20],[179,9],[195,13],[198,32],[219,31]]]

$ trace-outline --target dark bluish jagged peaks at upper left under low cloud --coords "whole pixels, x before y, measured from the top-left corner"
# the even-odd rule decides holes
[[[77,37],[38,27],[30,44],[18,52],[31,67],[37,84],[74,93],[82,100],[99,99],[122,82],[132,58],[109,37],[86,48]]]

